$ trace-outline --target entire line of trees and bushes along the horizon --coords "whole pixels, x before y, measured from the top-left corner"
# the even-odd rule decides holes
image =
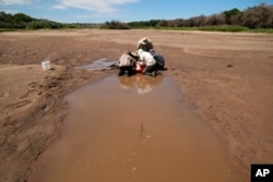
[[[71,28],[71,27],[100,27],[108,29],[129,29],[146,27],[202,27],[207,31],[211,26],[235,26],[246,28],[273,28],[273,5],[261,3],[244,11],[232,9],[218,14],[199,15],[190,19],[176,20],[150,20],[123,23],[119,21],[106,22],[104,24],[63,24],[49,20],[38,20],[24,13],[14,15],[0,12],[0,28]],[[227,29],[228,31],[228,29]]]

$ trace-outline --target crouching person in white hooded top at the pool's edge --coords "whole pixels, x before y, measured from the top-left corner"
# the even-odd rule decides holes
[[[138,53],[140,62],[143,65],[145,65],[145,68],[142,71],[142,74],[155,77],[157,75],[157,71],[156,71],[156,61],[154,57],[150,52],[144,51],[143,49],[139,49]]]

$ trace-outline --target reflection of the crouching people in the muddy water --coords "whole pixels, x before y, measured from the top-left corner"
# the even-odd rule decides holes
[[[146,94],[154,89],[156,85],[159,85],[163,82],[163,76],[147,76],[142,74],[136,74],[131,77],[119,76],[119,85],[123,89],[134,89],[136,88],[138,94]]]

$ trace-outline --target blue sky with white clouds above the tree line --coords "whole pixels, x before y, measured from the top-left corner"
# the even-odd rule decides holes
[[[0,11],[62,23],[189,19],[273,0],[0,0]]]

